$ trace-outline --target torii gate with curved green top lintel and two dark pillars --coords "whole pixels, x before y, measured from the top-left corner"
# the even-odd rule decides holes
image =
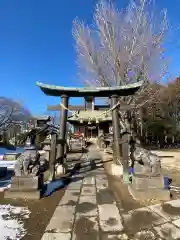
[[[136,91],[143,85],[143,81],[138,83],[128,84],[117,87],[97,87],[97,88],[76,88],[76,87],[62,87],[56,85],[44,84],[37,82],[37,86],[49,96],[61,97],[61,118],[60,118],[60,164],[64,163],[64,142],[66,135],[66,122],[67,122],[67,111],[68,111],[68,100],[70,97],[109,97],[111,99],[111,107],[118,106],[118,98],[120,96],[134,95]],[[112,126],[114,130],[113,140],[115,144],[115,162],[121,162],[122,165],[127,168],[127,159],[121,158],[120,149],[120,124],[118,117],[118,109],[114,107],[112,109]],[[128,169],[125,169],[128,171]]]

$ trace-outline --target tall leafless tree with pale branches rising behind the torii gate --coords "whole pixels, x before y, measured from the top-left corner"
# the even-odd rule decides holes
[[[163,48],[168,30],[166,11],[156,18],[151,0],[139,0],[139,4],[132,0],[121,11],[112,1],[103,0],[96,5],[94,22],[94,26],[78,19],[73,22],[78,65],[86,83],[120,86],[143,80],[136,96],[120,100],[138,106],[152,101],[156,93],[151,83],[168,71]]]

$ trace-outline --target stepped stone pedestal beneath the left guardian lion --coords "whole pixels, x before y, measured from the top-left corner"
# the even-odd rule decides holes
[[[12,177],[11,188],[5,191],[5,198],[40,199],[43,186],[43,175],[38,177]]]

